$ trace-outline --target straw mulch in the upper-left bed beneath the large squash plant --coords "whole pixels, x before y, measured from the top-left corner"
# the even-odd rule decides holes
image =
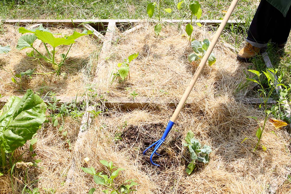
[[[27,26],[29,28],[29,26]],[[16,78],[18,84],[12,82],[11,78],[15,74],[25,72],[29,69],[35,69],[36,73],[53,72],[52,65],[42,59],[29,57],[26,53],[31,52],[31,48],[21,51],[15,49],[19,37],[19,26],[2,25],[0,33],[0,45],[10,45],[11,51],[8,54],[0,55],[0,93],[1,95],[22,95],[27,89],[32,89],[40,94],[46,94],[49,91],[56,92],[58,95],[75,96],[84,92],[84,85],[88,83],[93,75],[92,67],[95,63],[95,58],[101,47],[100,42],[97,42],[90,36],[83,36],[76,40],[73,44],[68,56],[70,57],[66,64],[61,68],[61,76],[53,74],[33,74],[32,76],[24,76],[20,82]],[[74,30],[82,32],[83,29],[49,28],[52,33],[61,33],[63,35],[71,35]],[[36,40],[33,46],[45,54],[46,50],[40,40]],[[60,61],[60,54],[66,53],[69,45],[56,47],[56,61]],[[48,46],[52,50],[51,46]]]

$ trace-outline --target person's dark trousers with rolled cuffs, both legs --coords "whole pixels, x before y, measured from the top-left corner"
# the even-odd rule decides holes
[[[255,47],[265,47],[269,40],[278,45],[287,42],[291,29],[291,10],[286,17],[266,0],[261,0],[251,22],[247,42]]]

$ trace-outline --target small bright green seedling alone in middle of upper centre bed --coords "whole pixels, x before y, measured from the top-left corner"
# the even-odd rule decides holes
[[[120,77],[122,79],[122,81],[127,78],[127,76],[129,76],[130,78],[130,74],[129,74],[129,63],[134,60],[137,56],[139,56],[139,53],[134,53],[132,55],[130,55],[128,58],[124,59],[124,61],[122,63],[118,63],[117,67],[119,67],[119,69],[117,70],[116,73],[113,73],[113,79],[111,80],[111,84],[113,83],[113,81],[117,78]]]

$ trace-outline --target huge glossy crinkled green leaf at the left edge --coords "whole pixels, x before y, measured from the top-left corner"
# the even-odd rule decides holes
[[[10,97],[0,111],[0,147],[11,153],[30,140],[45,122],[47,105],[43,100],[27,90],[19,97]]]

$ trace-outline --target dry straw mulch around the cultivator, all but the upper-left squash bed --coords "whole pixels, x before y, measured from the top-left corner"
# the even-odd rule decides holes
[[[195,38],[211,39],[212,34],[206,28],[203,30],[196,29]],[[184,31],[177,30],[177,26],[164,26],[161,36],[156,38],[153,26],[145,24],[144,29],[126,37],[120,35],[107,66],[100,71],[103,77],[109,76],[117,62],[139,52],[139,58],[130,65],[131,78],[122,84],[115,81],[112,86],[109,77],[102,79],[97,83],[97,92],[109,100],[129,98],[132,90],[142,97],[180,99],[196,69],[187,62],[191,49],[182,34]],[[144,51],[145,43],[149,49]],[[116,185],[126,179],[135,179],[139,184],[133,193],[267,193],[269,184],[284,177],[291,167],[290,134],[285,129],[274,129],[267,122],[261,140],[267,150],[259,148],[253,152],[255,132],[259,124],[262,125],[264,114],[255,107],[242,104],[236,97],[237,85],[244,82],[243,71],[247,67],[238,64],[235,53],[221,43],[217,43],[214,53],[217,63],[205,67],[188,100],[191,104],[183,108],[171,133],[159,148],[161,156],[153,158],[161,167],[150,164],[150,152],[146,156],[142,152],[161,138],[173,109],[103,110],[84,137],[84,145],[79,148],[74,181],[69,185],[64,181],[72,156],[60,139],[61,134],[47,124],[38,132],[35,150],[42,159],[39,166],[43,168],[29,169],[27,177],[30,181],[42,179],[31,187],[40,188],[41,193],[45,193],[44,188],[54,188],[56,193],[78,194],[88,193],[95,187],[95,193],[101,194],[106,188],[95,184],[93,177],[78,167],[93,166],[96,172],[107,173],[99,162],[107,160],[125,169],[116,178]],[[248,116],[258,117],[260,123]],[[209,164],[199,164],[190,176],[185,172],[190,161],[189,153],[183,147],[189,130],[202,145],[210,145],[213,150]],[[78,125],[70,125],[69,131],[73,147]],[[249,139],[241,143],[246,137]],[[85,163],[85,157],[91,160]],[[24,160],[29,161],[29,157],[24,156]],[[17,191],[24,187],[24,173],[18,169],[13,177]],[[5,188],[0,189],[0,193],[13,193],[9,175],[0,177],[0,188]],[[284,182],[278,191],[291,193],[290,184]]]

